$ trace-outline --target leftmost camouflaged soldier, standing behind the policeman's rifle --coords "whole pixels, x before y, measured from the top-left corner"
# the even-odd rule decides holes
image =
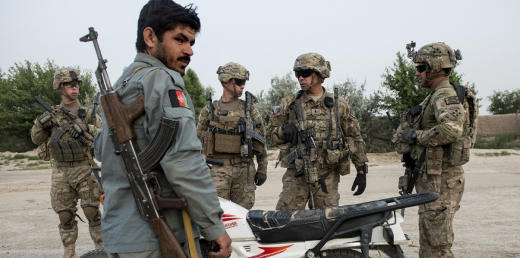
[[[90,171],[93,165],[92,142],[99,117],[78,102],[81,75],[72,68],[58,69],[54,73],[53,88],[61,92],[61,104],[53,107],[54,114],[45,112],[34,120],[31,138],[38,145],[38,154],[52,165],[51,204],[60,219],[59,232],[65,248],[63,257],[77,257],[75,243],[78,237],[76,204],[88,219],[89,231],[96,248],[103,248],[99,196],[101,188]],[[81,129],[68,125],[61,108],[76,116],[74,121]]]

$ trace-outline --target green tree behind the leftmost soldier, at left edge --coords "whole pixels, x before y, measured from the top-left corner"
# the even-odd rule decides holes
[[[36,96],[41,96],[50,105],[61,101],[59,92],[52,89],[54,72],[58,68],[48,60],[45,64],[15,63],[8,73],[0,73],[0,150],[27,151],[35,146],[29,131],[34,118],[42,113],[31,104]],[[80,103],[91,103],[95,93],[92,74],[83,75]]]

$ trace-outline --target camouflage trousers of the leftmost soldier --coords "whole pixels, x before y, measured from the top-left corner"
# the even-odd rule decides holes
[[[73,246],[78,236],[77,221],[75,220],[78,199],[81,199],[81,208],[89,221],[90,236],[96,248],[102,247],[101,221],[99,220],[101,215],[99,196],[102,190],[90,171],[89,162],[79,161],[71,163],[69,166],[54,163],[51,181],[51,205],[60,217],[61,223],[58,228],[64,247]],[[63,220],[69,220],[69,222],[64,223]]]

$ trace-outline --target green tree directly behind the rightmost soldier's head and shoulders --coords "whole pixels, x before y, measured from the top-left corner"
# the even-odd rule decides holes
[[[415,77],[415,64],[397,52],[397,59],[391,67],[385,68],[381,76],[383,91],[376,94],[382,100],[381,110],[390,111],[394,115],[406,113],[413,106],[421,103],[429,94],[429,90],[418,86],[419,81]],[[462,74],[455,69],[450,74],[450,81],[463,85]],[[474,85],[466,84],[473,87]]]

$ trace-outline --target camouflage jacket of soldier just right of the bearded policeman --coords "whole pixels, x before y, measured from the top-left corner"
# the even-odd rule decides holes
[[[206,140],[207,134],[213,133],[210,130],[208,130],[210,121],[212,119],[214,119],[215,120],[214,122],[217,122],[217,123],[219,122],[219,115],[218,115],[219,110],[227,110],[228,117],[231,117],[231,116],[245,117],[245,112],[246,112],[245,111],[245,101],[241,100],[241,99],[238,99],[238,100],[235,100],[232,102],[227,102],[227,103],[222,102],[221,100],[215,100],[215,101],[213,101],[212,104],[213,104],[213,110],[214,110],[213,115],[210,114],[208,107],[205,106],[200,111],[199,122],[197,124],[197,136],[201,140],[204,150],[206,150],[208,148],[207,145],[210,144]],[[256,109],[254,106],[251,111],[251,120],[260,121],[260,123],[258,123],[254,129],[255,129],[256,133],[258,133],[259,135],[261,135],[262,137],[265,138],[265,130],[264,130],[264,123],[262,121],[262,116],[260,115],[260,112],[258,111],[258,109]],[[234,129],[238,129],[238,128],[234,128]],[[258,164],[257,172],[266,174],[267,173],[267,150],[266,150],[267,148],[266,148],[265,144],[262,145],[257,141],[253,141],[253,144],[254,144],[254,148],[260,151],[259,153],[255,153],[256,161]],[[213,155],[208,155],[208,156],[216,158],[216,159],[238,158],[238,157],[240,157],[240,154],[215,153]]]

